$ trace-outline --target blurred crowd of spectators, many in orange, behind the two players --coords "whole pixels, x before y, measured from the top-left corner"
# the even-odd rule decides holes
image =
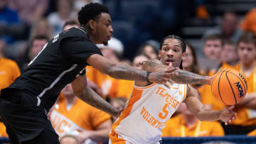
[[[118,6],[122,7],[120,1],[107,0],[26,0],[26,3],[22,0],[1,0],[0,89],[14,82],[16,77],[26,69],[28,62],[33,60],[43,45],[54,35],[68,28],[79,28],[77,12],[82,6],[90,2],[107,3],[112,13],[118,12]],[[131,6],[132,2],[134,1],[131,1]],[[175,6],[175,2],[168,2],[168,4],[171,3]],[[167,14],[171,15],[174,11],[172,9],[164,10],[162,18],[167,18]],[[183,9],[183,11],[185,10]],[[196,3],[195,11],[198,18],[206,19],[209,17],[206,7],[201,2]],[[132,12],[134,11],[131,10],[131,16]],[[183,15],[186,16],[186,13]],[[139,45],[134,45],[128,40],[131,37],[129,33],[132,31],[122,31],[122,28],[129,27],[127,23],[119,21],[120,18],[117,13],[112,17],[114,33],[117,35],[114,34],[107,46],[97,46],[108,59],[138,69],[142,68],[142,62],[158,59],[159,40],[161,38],[176,33],[174,30],[175,23],[171,23],[172,19],[160,23],[162,24],[161,27],[157,23],[160,21],[158,18],[149,21],[149,18],[142,17],[141,21],[138,22],[139,25],[137,25],[141,33],[137,32],[137,36],[133,35],[134,38],[132,38],[132,40],[139,39],[136,41]],[[155,28],[156,25],[151,23],[155,23],[158,27]],[[151,36],[144,31],[145,28],[151,28]],[[158,28],[164,31],[157,31]],[[119,37],[120,34],[122,38]],[[162,131],[163,136],[256,135],[255,35],[256,8],[248,9],[241,21],[235,12],[225,11],[220,25],[208,29],[201,38],[198,38],[203,44],[187,43],[186,59],[182,63],[183,70],[209,76],[223,68],[238,70],[247,77],[247,96],[235,105],[234,111],[238,115],[228,126],[219,121],[199,121],[186,109],[186,104],[181,104],[175,116],[166,123],[166,127]],[[194,48],[194,45],[201,48]],[[131,47],[135,48],[129,49]],[[128,56],[125,55],[125,52],[129,53]],[[132,55],[130,55],[131,53]],[[87,84],[97,94],[100,94],[115,108],[120,110],[124,108],[132,92],[134,82],[113,79],[92,67],[86,67],[86,76]],[[198,89],[201,101],[207,109],[221,110],[225,107],[211,94],[210,86],[193,85],[193,87]],[[112,123],[116,120],[109,114],[78,99],[70,84],[60,93],[58,101],[48,116],[55,131],[60,135],[60,143],[106,143],[109,139]],[[0,122],[0,137],[7,136],[4,125]]]

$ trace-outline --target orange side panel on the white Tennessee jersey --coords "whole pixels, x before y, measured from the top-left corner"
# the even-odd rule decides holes
[[[125,108],[124,111],[122,111],[121,115],[119,116],[119,119],[112,126],[112,130],[110,132],[111,143],[115,143],[115,144],[125,143],[125,140],[123,140],[122,138],[118,138],[118,135],[117,135],[117,133],[114,132],[114,129],[117,128],[117,126],[119,126],[119,124],[121,123],[121,121],[124,118],[129,116],[129,113],[131,113],[131,111],[132,111],[132,107],[141,98],[142,92],[143,91],[140,90],[140,89],[133,89],[133,92],[132,92],[132,95],[129,99],[127,108]]]

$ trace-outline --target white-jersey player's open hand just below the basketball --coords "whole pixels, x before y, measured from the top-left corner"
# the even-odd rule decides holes
[[[233,119],[235,119],[235,116],[237,115],[237,113],[233,111],[234,108],[234,105],[227,106],[220,111],[220,120],[223,121],[226,126],[228,125],[228,123],[231,123]]]

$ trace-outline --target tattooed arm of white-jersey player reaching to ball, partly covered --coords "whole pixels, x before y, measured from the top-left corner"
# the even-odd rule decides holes
[[[143,67],[146,67],[146,70],[149,70],[151,72],[156,72],[159,70],[166,69],[166,65],[164,65],[159,60],[148,60],[144,62]],[[209,84],[210,85],[210,79],[212,77],[202,76],[199,74],[194,74],[192,72],[188,72],[185,70],[176,70],[173,73],[177,73],[172,75],[170,78],[173,82],[177,84]]]

